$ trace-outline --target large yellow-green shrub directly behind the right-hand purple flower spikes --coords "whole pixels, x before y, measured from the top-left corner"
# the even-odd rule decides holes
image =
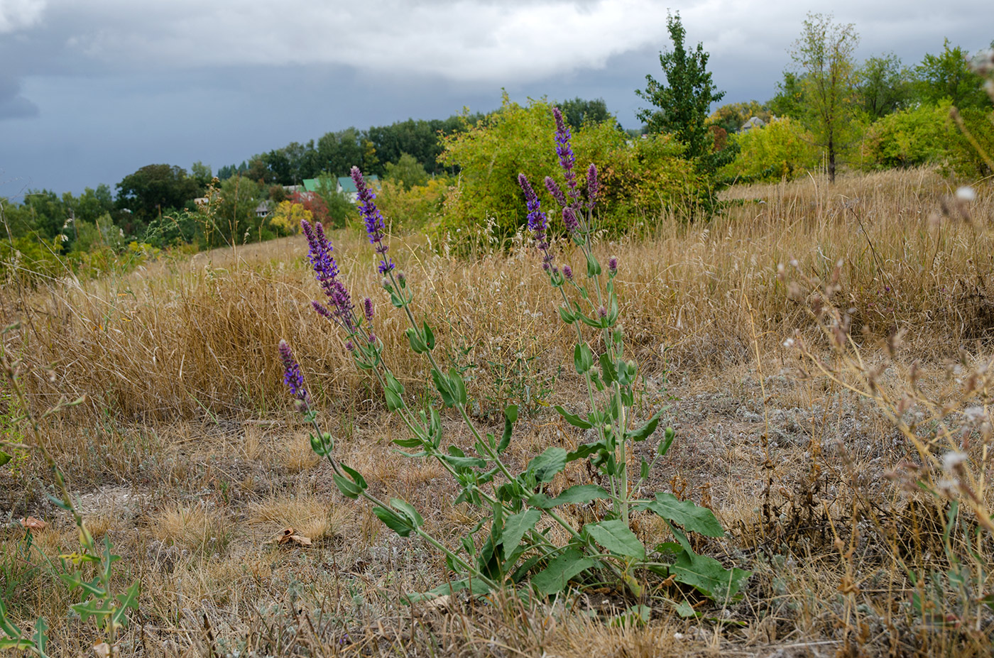
[[[523,107],[505,94],[500,111],[443,138],[440,157],[461,174],[433,227],[434,237],[451,245],[457,236],[456,249],[465,251],[481,243],[500,244],[525,226],[518,172],[564,182],[549,138],[555,129],[551,110],[545,100]],[[610,190],[598,203],[599,229],[610,236],[667,211],[692,215],[710,195],[707,177],[684,157],[684,147],[672,135],[629,140],[613,121],[604,121],[584,124],[571,143],[580,161],[596,165]],[[578,184],[585,189],[582,174]],[[557,222],[551,231],[562,235],[562,225]]]

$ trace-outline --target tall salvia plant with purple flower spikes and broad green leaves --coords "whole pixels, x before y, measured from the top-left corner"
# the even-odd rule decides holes
[[[599,194],[597,170],[586,170],[585,194],[580,188],[576,158],[570,144],[570,130],[559,109],[554,110],[557,130],[556,151],[562,165],[565,186],[552,178],[546,188],[560,206],[566,235],[582,256],[580,272],[568,262],[560,263],[554,252],[549,218],[528,178],[518,181],[528,209],[528,229],[541,254],[542,267],[553,293],[562,300],[560,319],[576,333],[574,367],[582,376],[585,410],[556,411],[592,441],[576,450],[550,447],[531,459],[523,470],[507,459],[506,450],[514,438],[518,408],[504,410],[503,432],[481,430],[467,409],[466,386],[456,369],[444,370],[435,357],[435,336],[428,321],[415,318],[412,311],[411,282],[388,254],[384,218],[376,207],[375,194],[358,168],[352,178],[358,190],[358,205],[370,243],[378,254],[383,288],[394,307],[407,318],[411,349],[427,362],[429,387],[438,399],[427,409],[412,409],[404,386],[383,359],[383,343],[374,331],[374,304],[369,298],[357,304],[339,277],[338,266],[320,224],[302,223],[310,247],[308,258],[321,289],[323,302],[314,301],[319,315],[337,325],[345,349],[356,366],[368,371],[382,388],[387,409],[400,415],[410,436],[395,439],[409,450],[409,457],[434,459],[458,483],[453,504],[468,503],[483,510],[482,520],[457,546],[446,546],[424,529],[421,515],[410,503],[393,498],[382,500],[371,491],[363,476],[334,456],[334,440],[322,430],[313,402],[307,393],[297,365],[284,342],[279,344],[285,382],[297,409],[313,424],[311,447],[331,463],[333,478],[343,495],[365,498],[384,524],[402,537],[415,535],[444,555],[448,568],[457,577],[434,589],[408,594],[411,600],[468,589],[479,595],[503,587],[522,593],[552,595],[569,585],[582,588],[611,583],[628,596],[642,597],[652,578],[669,578],[696,589],[716,601],[741,597],[748,572],[726,569],[714,558],[698,555],[689,536],[722,537],[724,531],[711,510],[670,493],[643,498],[634,492],[652,467],[669,450],[674,431],[663,430],[651,462],[636,464],[633,444],[655,435],[662,410],[647,421],[638,422],[633,413],[633,385],[638,368],[624,358],[624,333],[618,319],[615,277],[619,263],[611,257],[603,267],[594,254],[591,237],[594,209]],[[565,189],[564,189],[565,187]],[[606,271],[605,271],[606,270]],[[453,410],[468,427],[473,447],[464,451],[448,444],[442,430],[441,410]],[[449,411],[449,412],[453,412]],[[583,460],[586,470],[596,474],[595,482],[572,486],[554,494],[556,475],[567,464]],[[596,510],[595,520],[578,527],[563,514],[564,508],[580,504]],[[673,541],[647,547],[631,529],[636,515],[656,515],[663,520]],[[558,528],[557,532],[552,532]],[[554,538],[564,538],[554,541]],[[683,590],[689,591],[689,588]],[[686,601],[679,610],[693,613]],[[637,612],[644,616],[646,609]]]

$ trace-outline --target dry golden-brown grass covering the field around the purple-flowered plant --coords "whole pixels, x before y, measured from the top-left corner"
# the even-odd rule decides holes
[[[777,265],[796,259],[824,279],[841,259],[867,358],[907,330],[881,386],[900,391],[919,360],[921,386],[939,391],[961,351],[989,356],[994,193],[977,190],[966,208],[952,192],[929,170],[736,188],[711,223],[661,222],[644,240],[597,247],[621,261],[627,345],[645,376],[639,412],[669,404],[665,422],[678,430],[647,491],[709,504],[730,533],[700,549],[754,572],[743,602],[702,619],[660,607],[647,626],[612,625],[621,602],[607,596],[401,604],[404,591],[447,570],[338,494],[289,411],[279,339],[293,345],[336,452],[378,495],[411,500],[453,543],[476,512],[450,504],[456,488],[437,465],[393,453],[403,426],[308,308],[317,287],[302,238],[120,278],[4,288],[0,314],[23,321],[4,349],[32,365],[25,381],[40,409],[60,395],[87,398],[44,440],[93,528],[122,555],[119,583],[142,581],[125,655],[988,655],[989,614],[977,617],[986,619],[979,630],[943,627],[908,603],[910,566],[948,567],[935,545],[941,516],[936,531],[935,511],[885,477],[911,449],[838,385],[788,377],[798,362],[782,346],[795,329],[818,344],[820,329],[803,300],[789,298]],[[377,302],[390,366],[415,399],[424,395],[424,365],[383,298],[368,245],[349,233],[333,242],[353,295]],[[519,246],[453,260],[416,237],[392,249],[414,286],[414,313],[435,319],[447,365],[466,369],[481,421],[529,397],[509,459],[523,465],[545,446],[575,446],[582,437],[545,408],[574,401],[578,387],[565,367],[573,339],[534,254]],[[554,378],[555,393],[543,394]],[[450,419],[446,440],[470,443]],[[553,489],[583,477],[567,471]],[[51,555],[74,537],[39,493],[47,482],[35,461],[0,472],[0,504],[50,520],[38,543]],[[313,544],[277,546],[286,527]],[[649,519],[636,530],[646,540],[665,534]],[[0,531],[0,588],[18,601],[18,621],[44,613],[66,655],[86,651],[92,629],[65,618],[73,601],[57,570],[24,546],[23,532]],[[856,588],[840,590],[844,582]]]

